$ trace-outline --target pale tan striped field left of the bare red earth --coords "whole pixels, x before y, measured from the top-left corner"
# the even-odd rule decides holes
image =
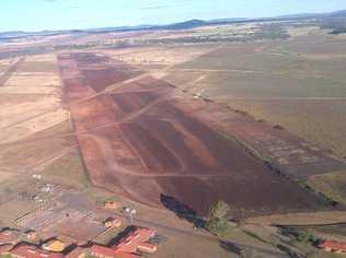
[[[36,59],[35,59],[36,58]],[[76,148],[54,55],[8,60],[0,86],[0,180],[44,168]],[[61,136],[61,137],[57,137]]]

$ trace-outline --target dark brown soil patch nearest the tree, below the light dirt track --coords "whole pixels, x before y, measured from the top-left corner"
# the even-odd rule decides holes
[[[314,197],[285,179],[264,174],[238,177],[158,178],[166,195],[206,214],[209,204],[222,199],[234,216],[311,211],[323,207]]]

